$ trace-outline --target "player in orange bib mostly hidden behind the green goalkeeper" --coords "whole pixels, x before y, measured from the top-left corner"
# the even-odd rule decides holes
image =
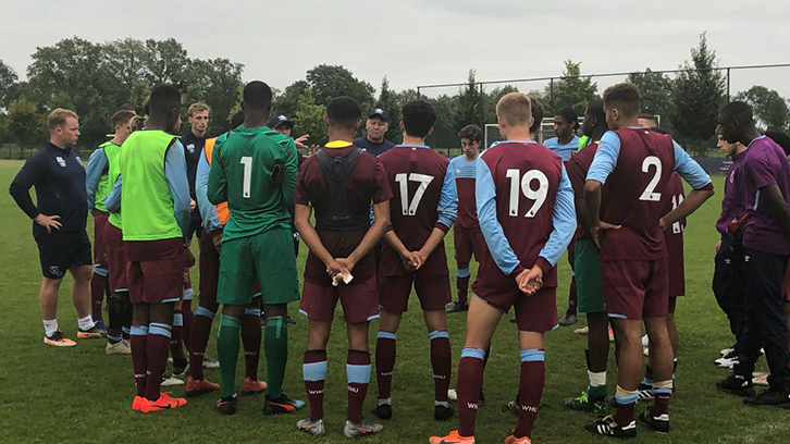
[[[244,123],[244,112],[238,111],[231,119],[231,127],[235,130]],[[232,131],[233,131],[232,130]],[[195,311],[192,324],[189,347],[189,377],[186,380],[186,396],[198,396],[213,392],[220,385],[203,378],[206,346],[211,333],[219,305],[217,304],[217,286],[220,276],[220,252],[222,249],[222,229],[231,217],[227,202],[211,205],[208,197],[209,171],[213,148],[224,141],[230,133],[206,140],[203,153],[198,163],[195,193],[198,198],[200,217],[203,221],[200,235],[200,306]],[[257,292],[260,296],[260,292]],[[244,345],[245,379],[242,394],[252,395],[267,388],[267,383],[258,380],[258,362],[261,343],[260,299],[254,299],[251,306],[245,308],[242,318],[242,344]],[[219,362],[218,362],[219,365]],[[219,367],[219,366],[218,366]]]

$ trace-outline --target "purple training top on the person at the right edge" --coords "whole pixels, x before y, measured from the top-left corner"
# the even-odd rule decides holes
[[[770,214],[761,196],[762,188],[778,185],[785,202],[790,205],[790,162],[774,140],[762,136],[749,144],[743,164],[745,177],[745,206],[752,218],[743,234],[743,247],[778,255],[790,255],[790,240]]]

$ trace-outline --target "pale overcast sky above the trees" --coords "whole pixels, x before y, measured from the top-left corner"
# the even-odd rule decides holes
[[[705,30],[723,66],[790,62],[787,0],[3,0],[2,11],[0,59],[23,78],[36,47],[71,36],[174,37],[280,89],[320,63],[377,89],[385,75],[405,89],[462,82],[469,69],[479,81],[559,75],[567,59],[588,74],[668,70]],[[790,95],[790,69],[749,76],[733,86]]]

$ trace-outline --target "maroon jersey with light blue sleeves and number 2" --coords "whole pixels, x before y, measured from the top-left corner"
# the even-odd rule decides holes
[[[602,235],[601,260],[658,260],[667,255],[658,221],[667,212],[677,171],[694,189],[711,177],[669,135],[646,128],[609,131],[601,138],[588,181],[603,186],[601,221],[621,225]]]

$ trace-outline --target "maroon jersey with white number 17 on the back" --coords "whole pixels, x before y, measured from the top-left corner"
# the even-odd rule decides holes
[[[449,161],[427,146],[398,145],[379,160],[386,170],[393,198],[390,200],[392,230],[409,251],[417,251],[433,229],[453,226],[458,212],[454,171]],[[444,240],[429,256],[421,274],[448,274]],[[379,274],[383,278],[406,274],[400,256],[384,242]]]

